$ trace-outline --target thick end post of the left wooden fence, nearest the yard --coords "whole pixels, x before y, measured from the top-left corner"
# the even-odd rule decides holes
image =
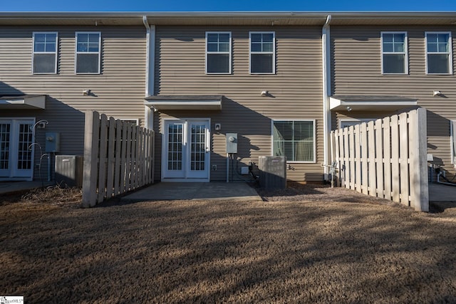
[[[86,112],[84,136],[83,207],[93,207],[97,201],[98,180],[98,112]]]

